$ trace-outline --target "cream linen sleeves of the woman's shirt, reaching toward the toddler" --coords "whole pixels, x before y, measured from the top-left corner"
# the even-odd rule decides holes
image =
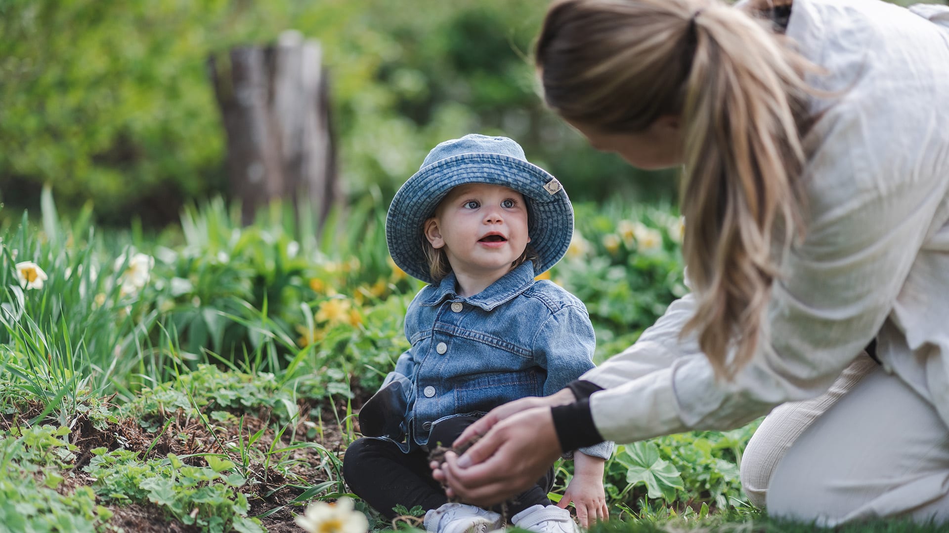
[[[855,90],[856,93],[856,90]],[[887,93],[888,94],[888,93]],[[857,95],[859,96],[859,95]],[[842,101],[809,134],[807,235],[780,261],[767,336],[732,381],[716,379],[694,336],[687,296],[622,354],[586,373],[598,431],[634,442],[726,430],[785,401],[827,391],[893,308],[946,195],[945,150],[934,119],[904,123],[885,101]],[[889,132],[886,136],[880,132]]]

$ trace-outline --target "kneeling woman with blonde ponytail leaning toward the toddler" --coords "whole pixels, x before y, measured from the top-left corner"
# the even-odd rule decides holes
[[[765,4],[549,9],[549,106],[636,167],[683,166],[693,292],[568,389],[470,427],[456,444],[483,438],[433,464],[450,493],[493,503],[564,450],[809,400],[765,475],[772,515],[949,518],[949,9]]]

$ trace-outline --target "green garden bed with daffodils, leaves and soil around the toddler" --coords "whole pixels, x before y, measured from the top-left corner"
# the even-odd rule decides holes
[[[681,223],[662,207],[577,212],[543,276],[585,300],[602,360],[684,292]],[[420,287],[388,259],[381,206],[319,234],[279,206],[244,227],[222,201],[157,235],[102,233],[90,215],[61,219],[47,193],[0,228],[0,529],[299,531],[344,508],[307,505],[337,501],[373,530],[419,526],[419,509],[381,520],[341,475]],[[598,530],[776,527],[738,484],[753,431],[618,446],[617,524]],[[557,473],[554,499],[571,463]]]

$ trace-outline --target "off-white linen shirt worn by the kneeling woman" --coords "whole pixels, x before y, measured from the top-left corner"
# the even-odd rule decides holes
[[[949,8],[914,11],[794,0],[787,35],[835,96],[809,101],[807,234],[781,259],[769,337],[716,380],[696,337],[679,339],[694,298],[672,303],[581,377],[605,388],[590,396],[605,439],[741,426],[826,392],[874,336],[884,368],[949,424]]]

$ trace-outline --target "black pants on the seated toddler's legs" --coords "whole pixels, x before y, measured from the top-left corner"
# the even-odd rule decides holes
[[[434,446],[440,442],[451,446],[458,435],[477,420],[477,416],[456,416],[436,424],[429,436]],[[553,487],[553,468],[537,481],[537,485],[518,494],[508,505],[508,515],[514,515],[531,505],[550,505],[547,493]],[[421,505],[426,511],[448,503],[445,490],[432,477],[428,453],[417,450],[403,453],[394,443],[363,437],[349,445],[343,457],[343,477],[346,484],[386,518],[398,516],[396,505],[411,509]],[[492,510],[500,512],[500,506]]]

